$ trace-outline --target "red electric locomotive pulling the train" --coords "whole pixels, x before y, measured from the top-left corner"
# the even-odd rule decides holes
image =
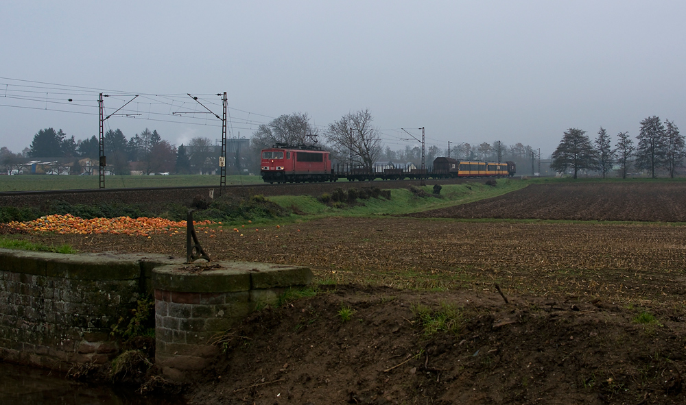
[[[329,151],[314,146],[277,143],[262,149],[262,179],[268,183],[335,181]]]

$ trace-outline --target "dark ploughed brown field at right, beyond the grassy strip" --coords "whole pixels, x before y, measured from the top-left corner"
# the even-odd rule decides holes
[[[532,184],[500,197],[410,216],[686,222],[686,182]]]

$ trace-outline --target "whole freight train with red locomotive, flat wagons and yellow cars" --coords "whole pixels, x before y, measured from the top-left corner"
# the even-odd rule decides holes
[[[436,158],[431,170],[414,167],[349,167],[332,164],[331,152],[305,145],[276,144],[262,149],[260,175],[267,183],[335,182],[338,179],[404,180],[460,177],[511,177],[514,162]]]

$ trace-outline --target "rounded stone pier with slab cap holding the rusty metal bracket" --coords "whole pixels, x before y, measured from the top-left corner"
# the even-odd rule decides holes
[[[220,350],[215,343],[231,326],[311,280],[307,267],[255,262],[157,267],[155,363],[167,378],[188,378],[211,363]]]

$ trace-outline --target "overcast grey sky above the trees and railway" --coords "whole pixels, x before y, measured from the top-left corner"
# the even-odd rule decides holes
[[[98,119],[92,95],[10,79],[226,91],[229,136],[241,137],[281,114],[307,112],[323,128],[368,108],[392,149],[416,145],[399,140],[401,127],[425,127],[427,146],[501,140],[543,157],[569,127],[591,138],[605,127],[613,143],[652,115],[686,130],[683,1],[27,0],[2,1],[0,16],[0,146],[12,151],[45,127],[97,135]],[[29,85],[43,101],[4,97]],[[106,99],[106,112],[125,99]],[[176,145],[221,137],[216,120],[161,117],[115,116],[106,128],[129,138],[148,127]]]

